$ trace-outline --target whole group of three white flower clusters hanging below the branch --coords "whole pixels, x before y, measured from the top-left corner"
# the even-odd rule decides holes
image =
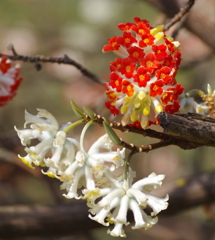
[[[15,130],[22,145],[39,140],[36,146],[26,147],[27,155],[19,158],[27,166],[47,167],[42,172],[62,182],[66,198],[86,199],[90,212],[89,217],[104,226],[114,224],[112,236],[125,237],[123,225],[128,225],[127,212],[134,215],[135,225],[132,229],[148,229],[158,221],[156,215],[167,208],[168,195],[165,198],[150,195],[152,189],[162,184],[164,175],[150,174],[133,183],[135,172],[128,168],[127,177],[120,174],[125,170],[125,149],[112,150],[114,144],[107,134],[100,137],[88,150],[83,146],[86,130],[85,125],[80,136],[80,143],[66,136],[67,125],[59,128],[56,119],[48,111],[38,109],[36,116],[26,112],[23,130]],[[26,128],[27,124],[30,129]],[[51,152],[51,155],[49,154]],[[117,170],[117,171],[115,171]],[[151,215],[144,212],[149,206]]]

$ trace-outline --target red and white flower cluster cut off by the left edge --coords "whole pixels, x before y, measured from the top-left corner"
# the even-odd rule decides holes
[[[7,57],[0,58],[0,107],[16,95],[16,90],[22,81],[19,70],[18,65],[11,67]]]

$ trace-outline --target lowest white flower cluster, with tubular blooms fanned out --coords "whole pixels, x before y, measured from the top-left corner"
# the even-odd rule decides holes
[[[127,221],[129,209],[133,212],[135,221],[132,229],[151,228],[158,221],[156,215],[167,208],[168,195],[165,198],[159,198],[148,192],[160,187],[163,179],[164,175],[152,173],[147,178],[131,184],[132,174],[130,174],[128,180],[111,179],[113,185],[109,188],[84,191],[90,207],[89,211],[94,215],[89,217],[104,226],[114,224],[113,230],[108,230],[108,233],[114,237],[126,237],[123,225],[129,224]],[[151,216],[143,210],[147,206],[152,210]]]

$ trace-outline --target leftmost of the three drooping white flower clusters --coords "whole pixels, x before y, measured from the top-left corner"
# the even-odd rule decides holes
[[[36,116],[25,112],[24,128],[30,123],[30,129],[19,130],[15,127],[23,146],[29,145],[32,139],[39,140],[36,146],[26,147],[25,151],[28,154],[19,158],[30,168],[34,168],[32,164],[49,167],[45,174],[54,177],[61,168],[72,161],[79,144],[76,140],[66,137],[66,133],[59,129],[57,120],[50,112],[44,109],[37,110]],[[52,157],[46,158],[49,151],[52,152]]]

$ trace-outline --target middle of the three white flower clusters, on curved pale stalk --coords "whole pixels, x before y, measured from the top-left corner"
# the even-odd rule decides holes
[[[61,188],[68,192],[64,194],[66,198],[79,199],[81,196],[77,193],[78,188],[84,186],[86,190],[93,190],[95,185],[99,182],[101,184],[100,180],[103,178],[105,178],[104,184],[107,184],[109,178],[106,175],[112,174],[110,170],[123,166],[125,149],[112,151],[112,146],[113,143],[105,134],[90,147],[88,152],[81,149],[76,153],[75,160],[60,173],[59,177],[63,182]],[[107,152],[100,152],[101,149]],[[108,162],[112,163],[111,167],[106,165]],[[112,175],[114,176],[114,173]]]

